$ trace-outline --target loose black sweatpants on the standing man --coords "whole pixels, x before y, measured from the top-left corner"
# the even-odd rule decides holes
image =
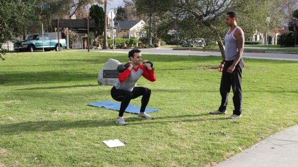
[[[234,111],[233,114],[240,115],[242,111],[242,90],[241,90],[241,79],[242,79],[242,68],[244,66],[243,59],[241,58],[238,64],[236,65],[234,71],[232,73],[228,73],[226,70],[228,67],[232,65],[234,60],[225,61],[224,69],[221,80],[221,96],[222,96],[222,104],[219,108],[219,111],[225,111],[227,102],[228,102],[228,94],[230,92],[231,86],[233,90],[233,104]]]

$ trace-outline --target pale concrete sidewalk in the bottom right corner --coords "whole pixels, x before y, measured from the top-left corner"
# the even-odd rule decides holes
[[[298,125],[266,138],[215,167],[298,167]]]

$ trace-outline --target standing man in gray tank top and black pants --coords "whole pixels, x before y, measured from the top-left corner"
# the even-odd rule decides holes
[[[225,51],[223,60],[218,68],[222,74],[220,92],[222,103],[217,111],[212,111],[210,114],[225,114],[228,101],[228,94],[231,86],[233,90],[233,114],[228,119],[240,118],[242,111],[242,91],[241,79],[243,68],[243,48],[244,48],[244,33],[236,23],[236,13],[230,11],[225,15],[225,23],[230,27],[224,37]]]

